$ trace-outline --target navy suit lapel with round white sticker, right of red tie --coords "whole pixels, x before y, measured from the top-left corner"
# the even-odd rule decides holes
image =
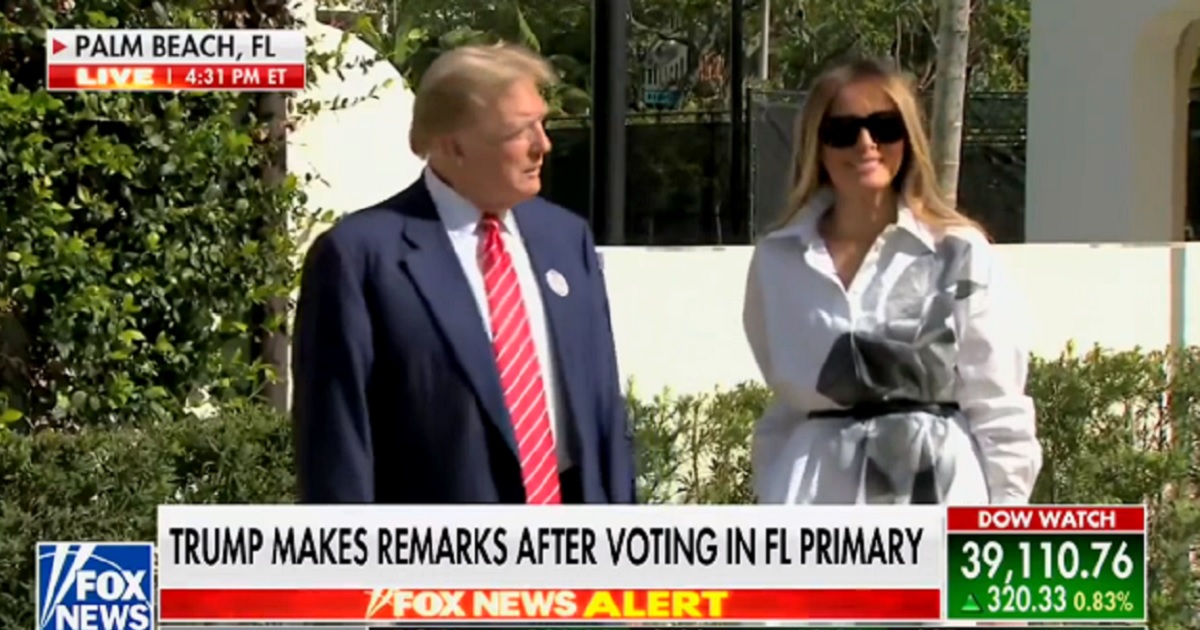
[[[586,402],[592,400],[586,370],[592,365],[588,350],[592,337],[587,325],[587,287],[576,272],[582,265],[578,252],[572,248],[574,244],[564,242],[563,234],[557,233],[545,216],[536,216],[542,210],[538,208],[541,203],[534,199],[521,204],[514,209],[514,215],[541,290],[550,337],[558,358],[558,372],[562,374],[559,380],[563,394],[576,432],[582,439],[588,439],[592,432],[584,419],[593,418],[594,414],[583,413],[587,409]],[[552,276],[562,278],[558,290],[548,282]],[[564,288],[565,294],[560,294]]]

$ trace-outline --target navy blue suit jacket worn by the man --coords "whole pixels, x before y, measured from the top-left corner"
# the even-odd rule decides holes
[[[634,503],[632,433],[608,299],[584,221],[514,209],[536,277],[574,439],[564,503]],[[424,181],[342,218],[304,265],[293,420],[305,503],[524,503],[491,340]]]

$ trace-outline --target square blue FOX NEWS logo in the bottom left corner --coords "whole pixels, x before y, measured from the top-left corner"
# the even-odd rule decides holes
[[[38,630],[154,630],[154,545],[38,542]]]

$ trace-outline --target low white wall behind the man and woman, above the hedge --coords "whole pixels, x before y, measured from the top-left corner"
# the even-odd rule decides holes
[[[1036,354],[1057,356],[1069,341],[1085,349],[1200,343],[1200,244],[1000,250],[1034,311]],[[742,334],[750,251],[604,250],[620,371],[635,378],[638,392],[758,379]]]

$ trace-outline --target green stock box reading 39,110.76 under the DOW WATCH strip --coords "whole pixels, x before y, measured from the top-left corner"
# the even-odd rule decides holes
[[[952,620],[1146,620],[1145,534],[949,534]]]

